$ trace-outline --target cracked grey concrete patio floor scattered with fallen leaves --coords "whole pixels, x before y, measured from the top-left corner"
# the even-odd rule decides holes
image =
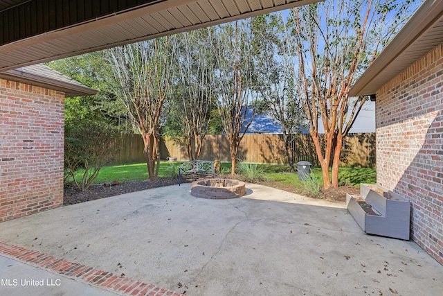
[[[182,184],[60,207],[0,223],[0,242],[189,295],[443,295],[443,266],[413,241],[363,234],[345,204],[246,187],[232,200]]]

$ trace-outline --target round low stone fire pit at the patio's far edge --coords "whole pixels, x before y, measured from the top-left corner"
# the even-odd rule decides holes
[[[191,184],[191,195],[196,198],[224,200],[246,194],[244,182],[231,179],[206,179]]]

